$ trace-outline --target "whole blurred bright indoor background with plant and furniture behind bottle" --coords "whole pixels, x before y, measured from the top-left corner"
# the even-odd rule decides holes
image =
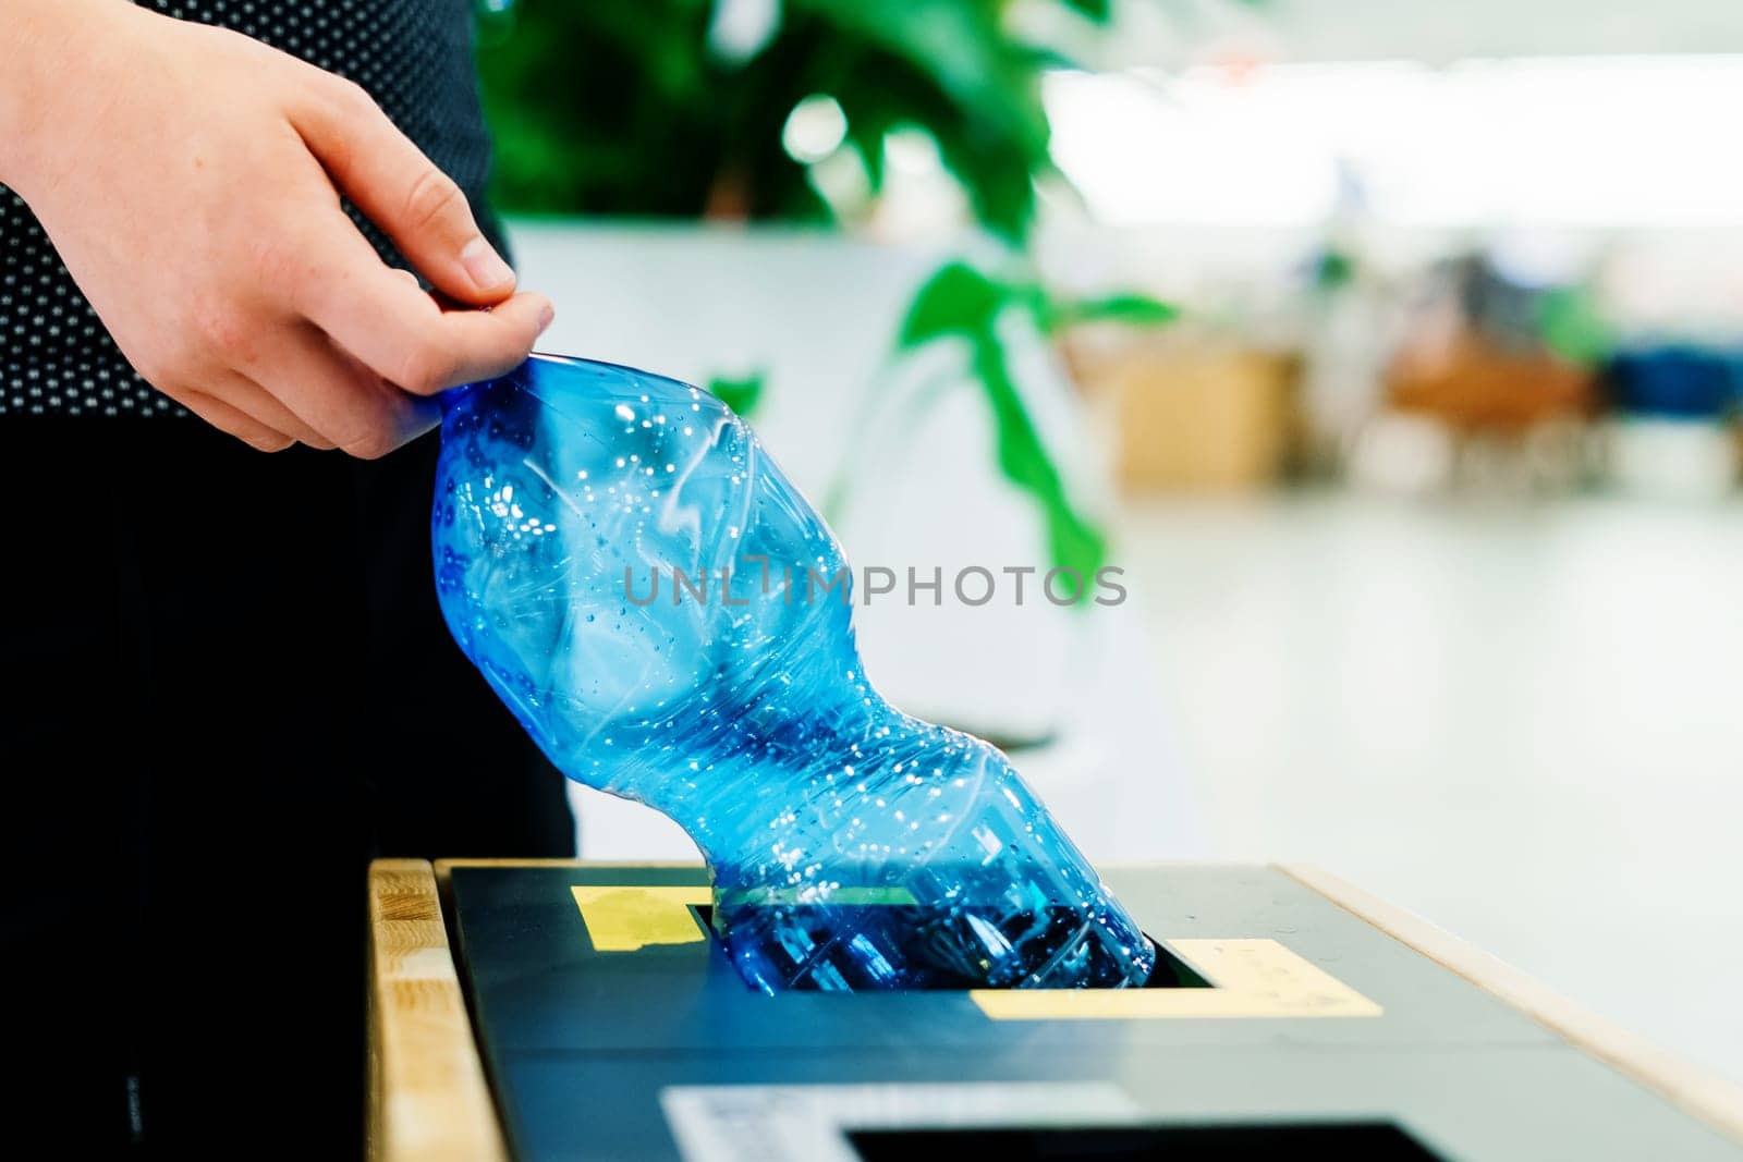
[[[1743,7],[479,28],[549,348],[732,401],[859,566],[1124,570],[863,606],[898,704],[1098,861],[1321,864],[1743,1080]]]

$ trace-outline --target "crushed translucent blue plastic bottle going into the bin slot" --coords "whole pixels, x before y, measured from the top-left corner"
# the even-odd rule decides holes
[[[448,627],[560,770],[695,840],[749,984],[1143,983],[1006,758],[866,681],[840,547],[725,404],[542,355],[444,404]]]

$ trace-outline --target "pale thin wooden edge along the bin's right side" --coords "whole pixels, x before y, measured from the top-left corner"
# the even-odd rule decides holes
[[[1743,1143],[1743,1087],[1694,1066],[1673,1052],[1556,995],[1499,956],[1461,941],[1428,920],[1387,904],[1311,864],[1274,864],[1278,871],[1386,932],[1400,944],[1464,977],[1520,1010],[1581,1052],[1651,1089],[1720,1136]]]

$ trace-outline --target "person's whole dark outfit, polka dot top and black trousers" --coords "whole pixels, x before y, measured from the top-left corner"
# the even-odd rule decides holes
[[[157,7],[359,80],[476,199],[469,2]],[[0,188],[0,979],[56,1157],[357,1157],[366,861],[573,852],[436,608],[436,449],[180,415]]]

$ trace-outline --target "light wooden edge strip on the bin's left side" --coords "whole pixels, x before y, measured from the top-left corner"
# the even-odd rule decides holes
[[[370,864],[370,1162],[505,1162],[436,875]]]

